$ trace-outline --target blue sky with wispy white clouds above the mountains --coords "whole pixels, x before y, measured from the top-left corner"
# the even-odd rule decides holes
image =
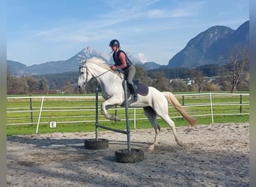
[[[8,0],[7,59],[67,60],[86,46],[110,55],[118,39],[142,62],[168,64],[202,31],[247,20],[249,0]]]

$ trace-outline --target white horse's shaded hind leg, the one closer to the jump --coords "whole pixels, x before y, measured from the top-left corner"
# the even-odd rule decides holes
[[[152,145],[150,145],[149,149],[153,150],[156,145],[158,144],[158,140],[159,140],[159,132],[160,132],[160,126],[158,125],[157,121],[156,121],[156,112],[153,111],[153,108],[151,108],[150,106],[144,107],[144,114],[147,116],[148,120],[150,120],[150,123],[153,126],[153,129],[155,129],[155,140],[153,142]]]

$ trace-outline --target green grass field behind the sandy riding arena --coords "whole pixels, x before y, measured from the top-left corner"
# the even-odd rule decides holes
[[[47,95],[48,96],[48,95]],[[56,95],[55,95],[56,96]],[[77,96],[77,95],[72,95]],[[29,98],[7,99],[7,135],[34,134],[37,129],[38,117],[40,123],[38,133],[48,132],[90,132],[95,131],[95,98],[67,97],[58,95],[56,98],[45,98],[43,101],[43,111],[40,115],[41,98],[32,98],[33,113],[31,117]],[[81,96],[81,95],[79,95]],[[88,96],[88,95],[86,95]],[[94,96],[91,94],[90,96]],[[213,111],[214,123],[243,123],[249,122],[249,95],[213,95],[210,106],[209,95],[186,95],[178,93],[177,99],[186,108],[189,115],[198,120],[198,124],[212,123],[211,111]],[[99,100],[99,106],[103,99]],[[242,102],[242,103],[241,103]],[[115,114],[115,109],[109,110],[110,114]],[[145,117],[142,108],[129,108],[129,126],[134,128],[134,112],[136,129],[152,128],[149,120]],[[125,110],[118,107],[117,114],[121,117],[120,122],[106,120],[99,110],[99,123],[103,126],[115,129],[126,129]],[[174,108],[169,108],[171,119],[176,126],[186,126],[188,123],[180,117]],[[31,123],[33,120],[33,123]],[[49,128],[49,122],[56,121],[56,128]],[[158,120],[159,125],[167,127],[162,120]],[[103,129],[100,129],[103,130]]]

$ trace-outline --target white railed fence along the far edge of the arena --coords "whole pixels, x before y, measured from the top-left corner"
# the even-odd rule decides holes
[[[249,115],[249,93],[190,93],[175,94],[180,104],[192,117],[221,115]],[[55,125],[56,123],[95,123],[95,96],[9,96],[7,97],[7,126]],[[103,98],[99,96],[99,123],[106,120],[100,112]],[[110,114],[118,114],[125,120],[125,108],[116,106]],[[169,105],[171,118],[182,118]],[[136,121],[147,120],[142,108],[129,108],[129,121],[136,128]]]

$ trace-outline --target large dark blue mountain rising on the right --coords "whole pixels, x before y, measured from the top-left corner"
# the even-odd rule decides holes
[[[236,31],[222,25],[208,28],[189,40],[185,48],[171,58],[167,67],[194,68],[205,64],[227,64],[224,57],[235,43],[249,43],[249,37],[245,37],[249,33],[249,21],[243,25]]]

